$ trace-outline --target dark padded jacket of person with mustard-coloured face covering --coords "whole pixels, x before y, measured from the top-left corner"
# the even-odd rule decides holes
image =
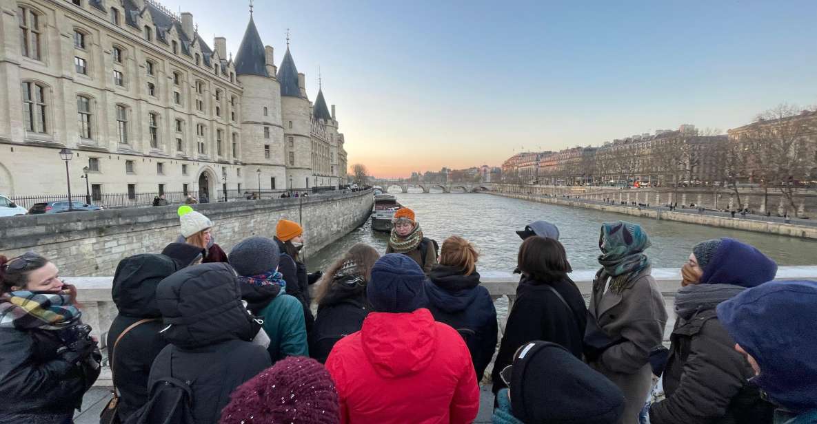
[[[749,384],[752,367],[714,309],[679,319],[663,373],[667,399],[650,407],[653,424],[765,424],[774,408]]]

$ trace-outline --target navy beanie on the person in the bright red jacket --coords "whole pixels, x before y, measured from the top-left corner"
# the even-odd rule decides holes
[[[372,267],[366,296],[378,312],[413,312],[426,306],[426,274],[404,254],[386,254]]]

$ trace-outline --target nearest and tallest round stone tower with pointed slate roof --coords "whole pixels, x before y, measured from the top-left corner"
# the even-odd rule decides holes
[[[247,167],[244,187],[261,190],[286,188],[281,86],[275,78],[272,47],[265,48],[255,22],[250,21],[235,56],[235,74],[244,88],[241,101],[241,144],[239,158]]]

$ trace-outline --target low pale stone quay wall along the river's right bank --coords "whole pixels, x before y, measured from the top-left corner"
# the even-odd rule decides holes
[[[681,223],[697,223],[712,227],[734,228],[737,230],[766,232],[781,236],[793,236],[817,240],[817,227],[807,227],[794,225],[791,223],[775,223],[759,221],[754,219],[728,218],[721,216],[702,215],[686,212],[671,212],[669,210],[639,209],[622,205],[609,205],[599,203],[587,203],[564,197],[542,197],[529,194],[492,192],[492,194],[504,197],[513,197],[525,201],[538,201],[540,203],[550,203],[552,205],[573,206],[585,209],[603,210],[605,212],[615,212],[617,214],[627,214],[640,216],[642,218],[667,219],[669,221],[679,221]],[[635,199],[633,199],[635,201]]]

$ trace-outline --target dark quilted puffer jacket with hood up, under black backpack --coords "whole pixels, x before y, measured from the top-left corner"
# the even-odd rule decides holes
[[[235,272],[226,263],[185,268],[159,283],[156,298],[171,344],[154,360],[148,386],[167,377],[193,382],[195,422],[214,424],[235,387],[270,366],[266,349],[250,342],[260,327],[241,303]]]

